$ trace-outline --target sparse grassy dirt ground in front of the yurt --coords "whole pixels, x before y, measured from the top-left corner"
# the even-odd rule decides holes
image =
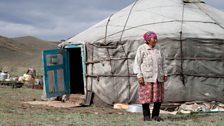
[[[224,113],[161,114],[163,122],[142,121],[141,113],[110,107],[55,108],[40,101],[42,90],[0,86],[0,126],[223,126]]]

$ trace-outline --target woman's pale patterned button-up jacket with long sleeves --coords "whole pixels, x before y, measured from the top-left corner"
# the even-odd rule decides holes
[[[145,82],[164,82],[163,76],[167,76],[163,53],[157,46],[151,48],[147,44],[138,47],[133,70]]]

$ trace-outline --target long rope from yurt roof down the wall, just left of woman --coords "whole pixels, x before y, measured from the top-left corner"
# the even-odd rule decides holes
[[[120,36],[120,40],[119,40],[120,43],[121,43],[121,40],[122,40],[124,31],[125,31],[125,28],[126,28],[126,26],[127,26],[128,20],[129,20],[129,18],[130,18],[131,12],[132,12],[132,10],[133,10],[133,8],[134,8],[134,6],[136,5],[137,2],[138,2],[138,0],[136,0],[136,1],[133,3],[132,7],[131,7],[130,10],[129,10],[128,17],[127,17],[127,19],[126,19],[126,21],[125,21],[123,30],[122,30],[122,32],[121,32],[121,36]],[[131,92],[131,82],[130,82],[130,70],[129,70],[128,54],[125,52],[125,49],[124,49],[124,45],[123,45],[123,44],[121,44],[121,47],[122,47],[122,49],[123,49],[123,51],[124,51],[125,58],[126,58],[126,60],[127,60],[127,70],[128,70],[128,91],[129,91],[129,93],[128,93],[128,101],[130,101],[130,99],[131,99],[131,95],[130,95],[130,94],[131,94],[131,93],[130,93],[130,92]]]

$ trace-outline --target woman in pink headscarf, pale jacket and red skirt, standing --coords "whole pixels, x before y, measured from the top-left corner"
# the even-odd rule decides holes
[[[152,119],[162,121],[159,112],[164,99],[164,82],[167,80],[165,58],[156,47],[156,33],[149,31],[143,37],[145,44],[138,47],[133,68],[139,83],[139,102],[142,104],[144,121],[151,120],[150,103],[154,103]]]

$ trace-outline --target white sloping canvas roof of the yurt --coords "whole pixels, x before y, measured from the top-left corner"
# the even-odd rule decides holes
[[[159,38],[224,39],[224,13],[201,0],[136,0],[133,4],[59,44]]]

